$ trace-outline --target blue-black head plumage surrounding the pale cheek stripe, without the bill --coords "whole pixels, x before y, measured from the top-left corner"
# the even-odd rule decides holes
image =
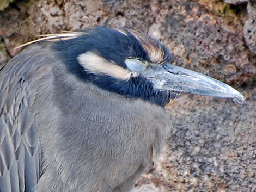
[[[88,51],[95,52],[100,57],[114,61],[115,64],[124,68],[126,68],[124,63],[126,58],[149,61],[148,53],[129,31],[125,35],[114,29],[96,27],[85,30],[84,34],[76,38],[56,41],[52,48],[57,49],[60,58],[64,60],[71,73],[85,82],[93,82],[105,90],[117,92],[127,97],[142,98],[160,106],[165,106],[174,96],[174,93],[169,91],[154,90],[153,83],[142,76],[133,77],[130,80],[119,80],[108,75],[87,73],[78,63],[78,55]]]

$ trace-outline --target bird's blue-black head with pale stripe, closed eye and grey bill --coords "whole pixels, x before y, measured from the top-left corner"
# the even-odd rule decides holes
[[[100,88],[165,106],[181,92],[232,98],[243,95],[214,78],[172,65],[172,54],[162,42],[129,29],[95,27],[56,34],[52,48],[71,73]]]

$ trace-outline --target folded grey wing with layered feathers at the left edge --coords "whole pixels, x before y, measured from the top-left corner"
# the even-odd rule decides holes
[[[35,57],[39,63],[33,63]],[[36,80],[44,77],[45,68],[40,72],[39,66],[46,58],[34,45],[0,71],[0,192],[34,192],[40,179],[42,157],[32,105]]]

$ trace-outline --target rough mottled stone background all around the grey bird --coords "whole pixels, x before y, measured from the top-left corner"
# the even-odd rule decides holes
[[[0,69],[35,35],[95,25],[162,40],[175,65],[239,89],[247,106],[182,95],[167,107],[173,129],[141,191],[256,191],[256,1],[0,0]]]

